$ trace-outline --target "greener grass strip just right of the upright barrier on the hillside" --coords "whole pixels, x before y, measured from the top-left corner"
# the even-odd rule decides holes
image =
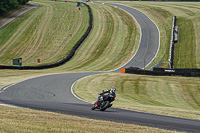
[[[192,20],[179,17],[177,25],[179,26],[179,42],[175,44],[174,66],[177,68],[197,68],[196,47],[193,45],[195,44],[195,28]]]

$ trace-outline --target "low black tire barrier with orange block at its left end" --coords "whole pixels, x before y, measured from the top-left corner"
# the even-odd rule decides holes
[[[130,67],[130,68],[122,68],[121,73],[153,75],[153,76],[200,77],[200,69],[153,68],[153,71],[149,71],[140,68]]]

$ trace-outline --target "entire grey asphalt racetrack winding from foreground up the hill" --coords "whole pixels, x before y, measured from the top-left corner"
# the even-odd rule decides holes
[[[130,13],[141,27],[141,41],[136,55],[125,64],[132,66],[134,59],[152,61],[159,48],[159,31],[155,24],[142,12],[123,5],[113,4]],[[141,57],[140,57],[141,56]],[[151,58],[150,58],[151,57]],[[145,64],[145,65],[146,65]],[[136,66],[142,67],[144,63]],[[118,72],[119,69],[112,72]],[[75,115],[98,120],[137,124],[168,130],[199,132],[200,121],[162,116],[119,108],[109,108],[104,112],[92,111],[91,103],[76,98],[71,88],[73,84],[86,76],[102,72],[64,73],[32,78],[3,88],[0,102],[37,110],[45,110],[67,115]]]

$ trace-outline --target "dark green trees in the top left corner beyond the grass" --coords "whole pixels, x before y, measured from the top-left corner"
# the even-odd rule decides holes
[[[25,5],[29,0],[0,0],[0,15],[10,9],[18,8],[19,5]]]

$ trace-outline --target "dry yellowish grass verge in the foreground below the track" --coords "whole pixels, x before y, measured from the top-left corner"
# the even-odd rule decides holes
[[[132,124],[91,120],[58,113],[10,108],[4,106],[0,106],[0,114],[1,133],[172,132],[156,128],[135,126]]]

